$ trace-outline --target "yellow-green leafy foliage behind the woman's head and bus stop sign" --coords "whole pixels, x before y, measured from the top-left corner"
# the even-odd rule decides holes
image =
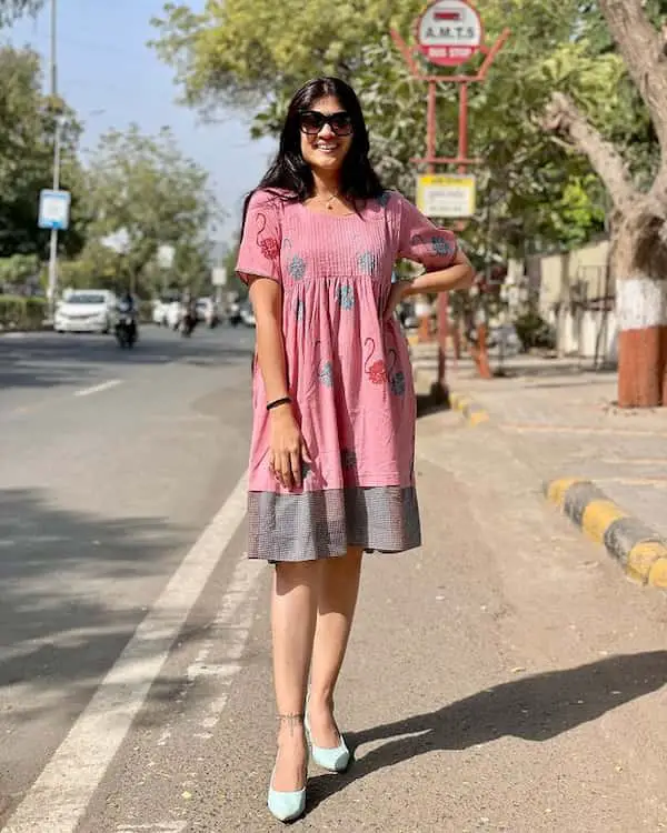
[[[176,68],[188,104],[205,114],[217,104],[250,108],[257,112],[253,136],[279,131],[287,102],[306,78],[334,72],[351,81],[379,172],[389,187],[411,194],[410,160],[424,155],[425,88],[410,77],[389,30],[395,26],[407,34],[421,6],[421,0],[360,0],[337,6],[331,17],[330,4],[325,9],[320,0],[287,0],[280,16],[270,0],[258,0],[251,12],[243,0],[211,2],[200,13],[168,4],[155,21],[156,46]],[[556,148],[534,121],[555,82],[579,88],[591,101],[613,94],[614,58],[584,67],[581,49],[569,56],[558,51],[573,39],[579,7],[577,0],[555,8],[544,0],[488,0],[482,9],[490,39],[505,26],[512,29],[510,47],[470,97],[471,152],[485,164],[480,195],[494,203],[492,237],[508,252],[521,251],[526,239],[537,247],[574,245],[603,228],[600,190],[575,192],[570,184],[570,179],[585,180],[588,163]],[[441,86],[440,148],[456,147],[457,121],[455,91]],[[569,210],[571,199],[576,213]],[[481,225],[472,222],[466,232],[475,248],[488,238],[484,211],[480,219]]]

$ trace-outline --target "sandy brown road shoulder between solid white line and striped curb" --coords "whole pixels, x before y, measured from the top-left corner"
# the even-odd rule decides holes
[[[425,545],[365,560],[336,699],[356,761],[342,775],[310,766],[295,831],[664,830],[664,598],[625,582],[552,511],[509,435],[482,433],[454,412],[419,420]],[[80,833],[281,829],[266,810],[270,578],[212,735],[163,688],[169,742],[140,716]],[[211,638],[211,668],[249,615]],[[188,697],[217,684],[198,678]]]

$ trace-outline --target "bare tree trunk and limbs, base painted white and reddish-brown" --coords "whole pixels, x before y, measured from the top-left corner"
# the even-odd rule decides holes
[[[599,0],[655,131],[659,158],[651,177],[641,175],[646,170],[637,171],[636,160],[609,141],[571,97],[555,92],[542,121],[589,160],[614,204],[610,265],[620,329],[618,400],[624,407],[667,404],[667,50],[665,29],[649,17],[665,12],[659,6]]]

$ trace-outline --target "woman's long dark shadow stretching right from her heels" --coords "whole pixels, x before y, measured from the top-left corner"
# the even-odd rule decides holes
[[[342,775],[310,777],[308,810],[352,781],[428,752],[469,749],[506,735],[548,741],[657,691],[665,683],[667,651],[619,654],[502,683],[428,714],[346,734],[352,749],[387,742],[355,762]]]

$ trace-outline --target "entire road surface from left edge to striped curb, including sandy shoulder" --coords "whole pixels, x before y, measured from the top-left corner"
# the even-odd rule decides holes
[[[270,569],[252,333],[0,339],[0,830],[260,833]],[[667,829],[665,598],[548,506],[529,440],[418,426],[425,546],[365,562],[349,773],[303,831]]]

